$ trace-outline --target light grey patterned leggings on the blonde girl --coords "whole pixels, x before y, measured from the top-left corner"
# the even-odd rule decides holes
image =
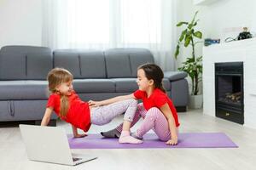
[[[93,107],[90,109],[90,122],[95,125],[105,125],[113,120],[114,117],[125,112],[124,120],[132,122],[137,111],[137,100],[126,99],[110,105]]]

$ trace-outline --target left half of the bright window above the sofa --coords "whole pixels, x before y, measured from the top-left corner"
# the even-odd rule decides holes
[[[69,0],[68,40],[71,43],[108,43],[108,7],[108,0]]]

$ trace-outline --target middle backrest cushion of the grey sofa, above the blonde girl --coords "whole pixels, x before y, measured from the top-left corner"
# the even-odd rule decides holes
[[[54,66],[71,71],[74,78],[106,78],[102,51],[58,49],[54,51]]]

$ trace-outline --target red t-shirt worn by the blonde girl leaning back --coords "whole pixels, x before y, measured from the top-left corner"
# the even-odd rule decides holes
[[[78,127],[84,132],[90,128],[90,109],[87,102],[79,99],[78,94],[71,94],[68,96],[69,109],[66,116],[60,115],[61,110],[61,96],[60,94],[50,94],[46,107],[53,107],[57,116],[65,122],[71,123],[74,127]]]

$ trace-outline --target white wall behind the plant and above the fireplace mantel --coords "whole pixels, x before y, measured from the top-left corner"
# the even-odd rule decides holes
[[[177,1],[177,21],[189,21],[196,10],[199,10],[200,19],[198,29],[203,32],[203,38],[223,38],[226,28],[237,28],[247,26],[254,27],[256,32],[256,1],[255,0],[216,0],[205,6],[195,6],[193,0]],[[255,11],[255,12],[254,12]],[[177,37],[181,29],[177,30]],[[236,36],[236,33],[234,34]],[[224,39],[222,39],[223,41]],[[196,48],[195,54],[201,56],[202,44]],[[182,49],[177,59],[177,67],[181,66],[191,52],[188,49]]]

